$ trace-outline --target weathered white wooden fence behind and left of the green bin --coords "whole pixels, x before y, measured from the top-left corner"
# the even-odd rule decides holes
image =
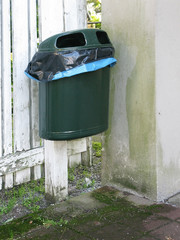
[[[38,83],[28,79],[24,70],[38,41],[86,27],[86,0],[0,0],[0,21],[1,190],[44,174],[44,147],[38,136]],[[80,142],[83,148],[75,147],[79,157],[87,148],[85,140]]]

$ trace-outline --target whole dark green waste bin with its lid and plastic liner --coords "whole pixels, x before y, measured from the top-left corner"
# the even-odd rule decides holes
[[[41,138],[69,140],[108,129],[110,66],[116,62],[113,55],[107,33],[99,29],[61,33],[40,44],[32,61],[38,67],[33,72],[31,62],[26,73],[40,81]]]

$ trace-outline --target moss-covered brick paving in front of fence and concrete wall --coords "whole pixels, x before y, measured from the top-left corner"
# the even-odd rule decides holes
[[[180,209],[105,186],[0,226],[0,239],[180,240]]]

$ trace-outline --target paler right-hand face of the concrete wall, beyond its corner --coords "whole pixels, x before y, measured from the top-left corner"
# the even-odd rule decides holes
[[[158,0],[156,128],[158,199],[180,191],[180,1]]]

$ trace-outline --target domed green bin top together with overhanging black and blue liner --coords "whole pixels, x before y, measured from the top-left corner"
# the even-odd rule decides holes
[[[107,33],[82,29],[56,34],[43,41],[25,74],[34,80],[48,82],[115,63],[114,47]]]

